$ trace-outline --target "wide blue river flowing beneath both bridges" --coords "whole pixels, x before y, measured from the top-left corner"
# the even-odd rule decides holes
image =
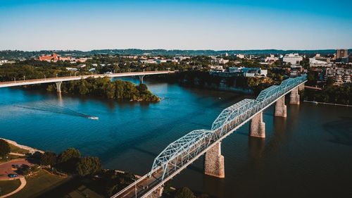
[[[57,153],[75,147],[99,156],[104,168],[144,175],[168,144],[210,128],[222,109],[249,97],[145,83],[161,102],[1,88],[0,137]],[[201,158],[172,184],[214,197],[352,197],[352,108],[288,104],[287,118],[275,118],[273,110],[264,111],[265,139],[248,137],[247,123],[222,142],[224,179],[203,175]]]

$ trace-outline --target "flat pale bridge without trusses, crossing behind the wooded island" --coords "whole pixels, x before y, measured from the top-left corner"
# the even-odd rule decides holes
[[[167,73],[175,73],[175,72],[170,70],[161,70],[161,71],[143,71],[143,72],[129,72],[129,73],[96,74],[96,75],[77,75],[77,76],[42,78],[42,79],[32,79],[32,80],[14,80],[9,82],[0,82],[0,88],[23,86],[23,85],[37,85],[37,84],[55,82],[57,91],[61,92],[61,83],[65,81],[81,80],[85,78],[103,78],[103,77],[114,78],[114,77],[138,76],[139,82],[143,83],[144,75],[158,75],[158,74],[167,74]]]

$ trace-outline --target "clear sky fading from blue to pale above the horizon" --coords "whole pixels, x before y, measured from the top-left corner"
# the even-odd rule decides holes
[[[351,47],[351,0],[0,0],[0,50]]]

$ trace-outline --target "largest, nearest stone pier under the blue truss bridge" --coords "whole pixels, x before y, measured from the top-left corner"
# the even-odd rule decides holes
[[[224,156],[221,155],[221,142],[215,144],[206,152],[204,173],[216,178],[225,178]]]

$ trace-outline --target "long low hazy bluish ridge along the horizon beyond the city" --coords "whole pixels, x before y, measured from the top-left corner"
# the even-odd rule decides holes
[[[352,50],[348,49],[351,54]],[[42,51],[18,51],[18,50],[4,50],[0,51],[0,59],[11,59],[11,58],[30,58],[40,56],[42,54],[60,54],[61,56],[92,56],[95,54],[108,54],[108,55],[151,55],[151,56],[220,56],[225,53],[229,55],[234,54],[253,54],[253,55],[265,55],[265,54],[334,54],[336,49],[313,49],[313,50],[282,50],[282,49],[251,49],[251,50],[180,50],[180,49],[94,49],[92,51],[78,51],[78,50],[42,50]]]

